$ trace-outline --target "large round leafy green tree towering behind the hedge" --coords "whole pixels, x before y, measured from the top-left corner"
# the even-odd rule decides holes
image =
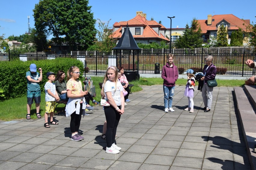
[[[38,33],[52,34],[61,49],[66,42],[71,50],[85,50],[96,35],[96,20],[88,4],[88,0],[40,0],[33,10],[35,28]]]

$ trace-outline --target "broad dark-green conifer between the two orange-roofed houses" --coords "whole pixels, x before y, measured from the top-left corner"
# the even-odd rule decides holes
[[[177,48],[198,48],[203,44],[202,30],[196,18],[186,25],[183,35],[175,42]]]

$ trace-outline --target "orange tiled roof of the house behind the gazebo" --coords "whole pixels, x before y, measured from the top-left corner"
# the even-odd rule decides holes
[[[118,30],[116,30],[113,33],[113,38],[120,38],[122,36],[121,30],[122,27],[126,27],[128,22],[129,26],[144,26],[145,29],[143,30],[142,35],[133,35],[133,37],[136,38],[160,38],[164,39],[166,41],[170,41],[168,38],[164,37],[162,34],[160,36],[150,27],[150,26],[160,26],[160,29],[166,29],[162,24],[157,23],[156,21],[148,21],[144,17],[137,15],[133,19],[130,19],[129,21],[121,21],[121,22],[115,22],[114,27],[120,27]]]

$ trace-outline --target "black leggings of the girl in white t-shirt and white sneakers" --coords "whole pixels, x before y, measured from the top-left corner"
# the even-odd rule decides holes
[[[121,106],[118,106],[121,108]],[[113,106],[104,106],[104,112],[107,120],[106,142],[107,147],[110,148],[115,143],[115,136],[117,132],[117,125],[121,115],[114,109]]]

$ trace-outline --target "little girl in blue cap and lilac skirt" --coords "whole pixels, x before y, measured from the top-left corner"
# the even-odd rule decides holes
[[[187,71],[187,85],[185,88],[184,96],[187,96],[188,99],[188,107],[184,110],[188,110],[190,113],[194,112],[194,89],[195,89],[195,76],[194,70],[188,69]]]

